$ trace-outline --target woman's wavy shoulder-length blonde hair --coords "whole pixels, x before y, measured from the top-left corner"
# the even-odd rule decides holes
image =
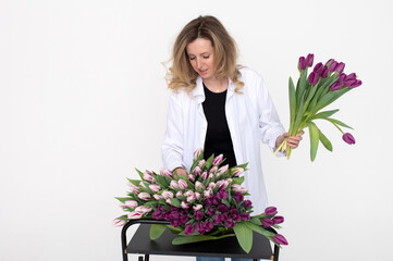
[[[188,94],[196,87],[198,73],[188,61],[186,47],[197,38],[211,41],[214,49],[214,66],[217,78],[231,78],[236,84],[235,91],[244,86],[237,61],[237,46],[221,22],[214,16],[199,16],[191,21],[179,34],[172,50],[172,66],[167,74],[168,88],[173,91],[185,89]]]

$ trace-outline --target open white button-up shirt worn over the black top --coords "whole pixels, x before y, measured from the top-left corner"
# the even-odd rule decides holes
[[[268,207],[262,176],[259,140],[274,150],[275,139],[285,132],[270,98],[263,79],[250,69],[241,69],[243,94],[234,91],[236,85],[229,80],[225,114],[231,132],[237,164],[248,162],[243,186],[248,188],[254,206],[254,214]],[[173,92],[168,109],[168,126],[162,144],[163,166],[173,170],[183,166],[189,171],[193,153],[204,148],[207,121],[202,102],[205,92],[201,77],[196,87]]]

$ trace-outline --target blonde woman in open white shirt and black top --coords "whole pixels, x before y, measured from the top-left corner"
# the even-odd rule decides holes
[[[216,17],[199,16],[182,29],[169,74],[173,94],[162,159],[165,169],[182,175],[198,148],[205,149],[207,158],[223,153],[230,167],[248,162],[244,185],[254,213],[260,213],[268,202],[259,140],[274,150],[288,135],[262,78],[238,66],[236,59],[236,44]],[[302,135],[288,137],[287,146],[297,148]]]

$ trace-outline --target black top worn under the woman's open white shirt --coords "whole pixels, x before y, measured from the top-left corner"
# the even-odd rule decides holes
[[[223,92],[212,92],[204,84],[205,101],[204,112],[208,122],[208,129],[205,138],[204,156],[206,160],[214,156],[223,154],[225,163],[230,167],[237,165],[230,128],[228,127],[225,115],[226,90]]]

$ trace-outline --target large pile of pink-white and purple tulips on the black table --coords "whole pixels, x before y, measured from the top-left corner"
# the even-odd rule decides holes
[[[204,160],[201,149],[195,151],[189,174],[177,175],[168,170],[146,171],[139,179],[128,179],[127,197],[116,198],[127,212],[113,221],[122,226],[130,220],[155,219],[170,221],[171,225],[153,224],[150,238],[157,239],[170,228],[177,234],[174,245],[216,240],[236,236],[245,252],[253,246],[253,231],[266,236],[275,245],[287,245],[286,239],[271,227],[280,228],[284,217],[277,215],[277,208],[250,216],[253,203],[245,199],[247,188],[242,187],[247,164],[229,169],[220,166],[223,156]]]

